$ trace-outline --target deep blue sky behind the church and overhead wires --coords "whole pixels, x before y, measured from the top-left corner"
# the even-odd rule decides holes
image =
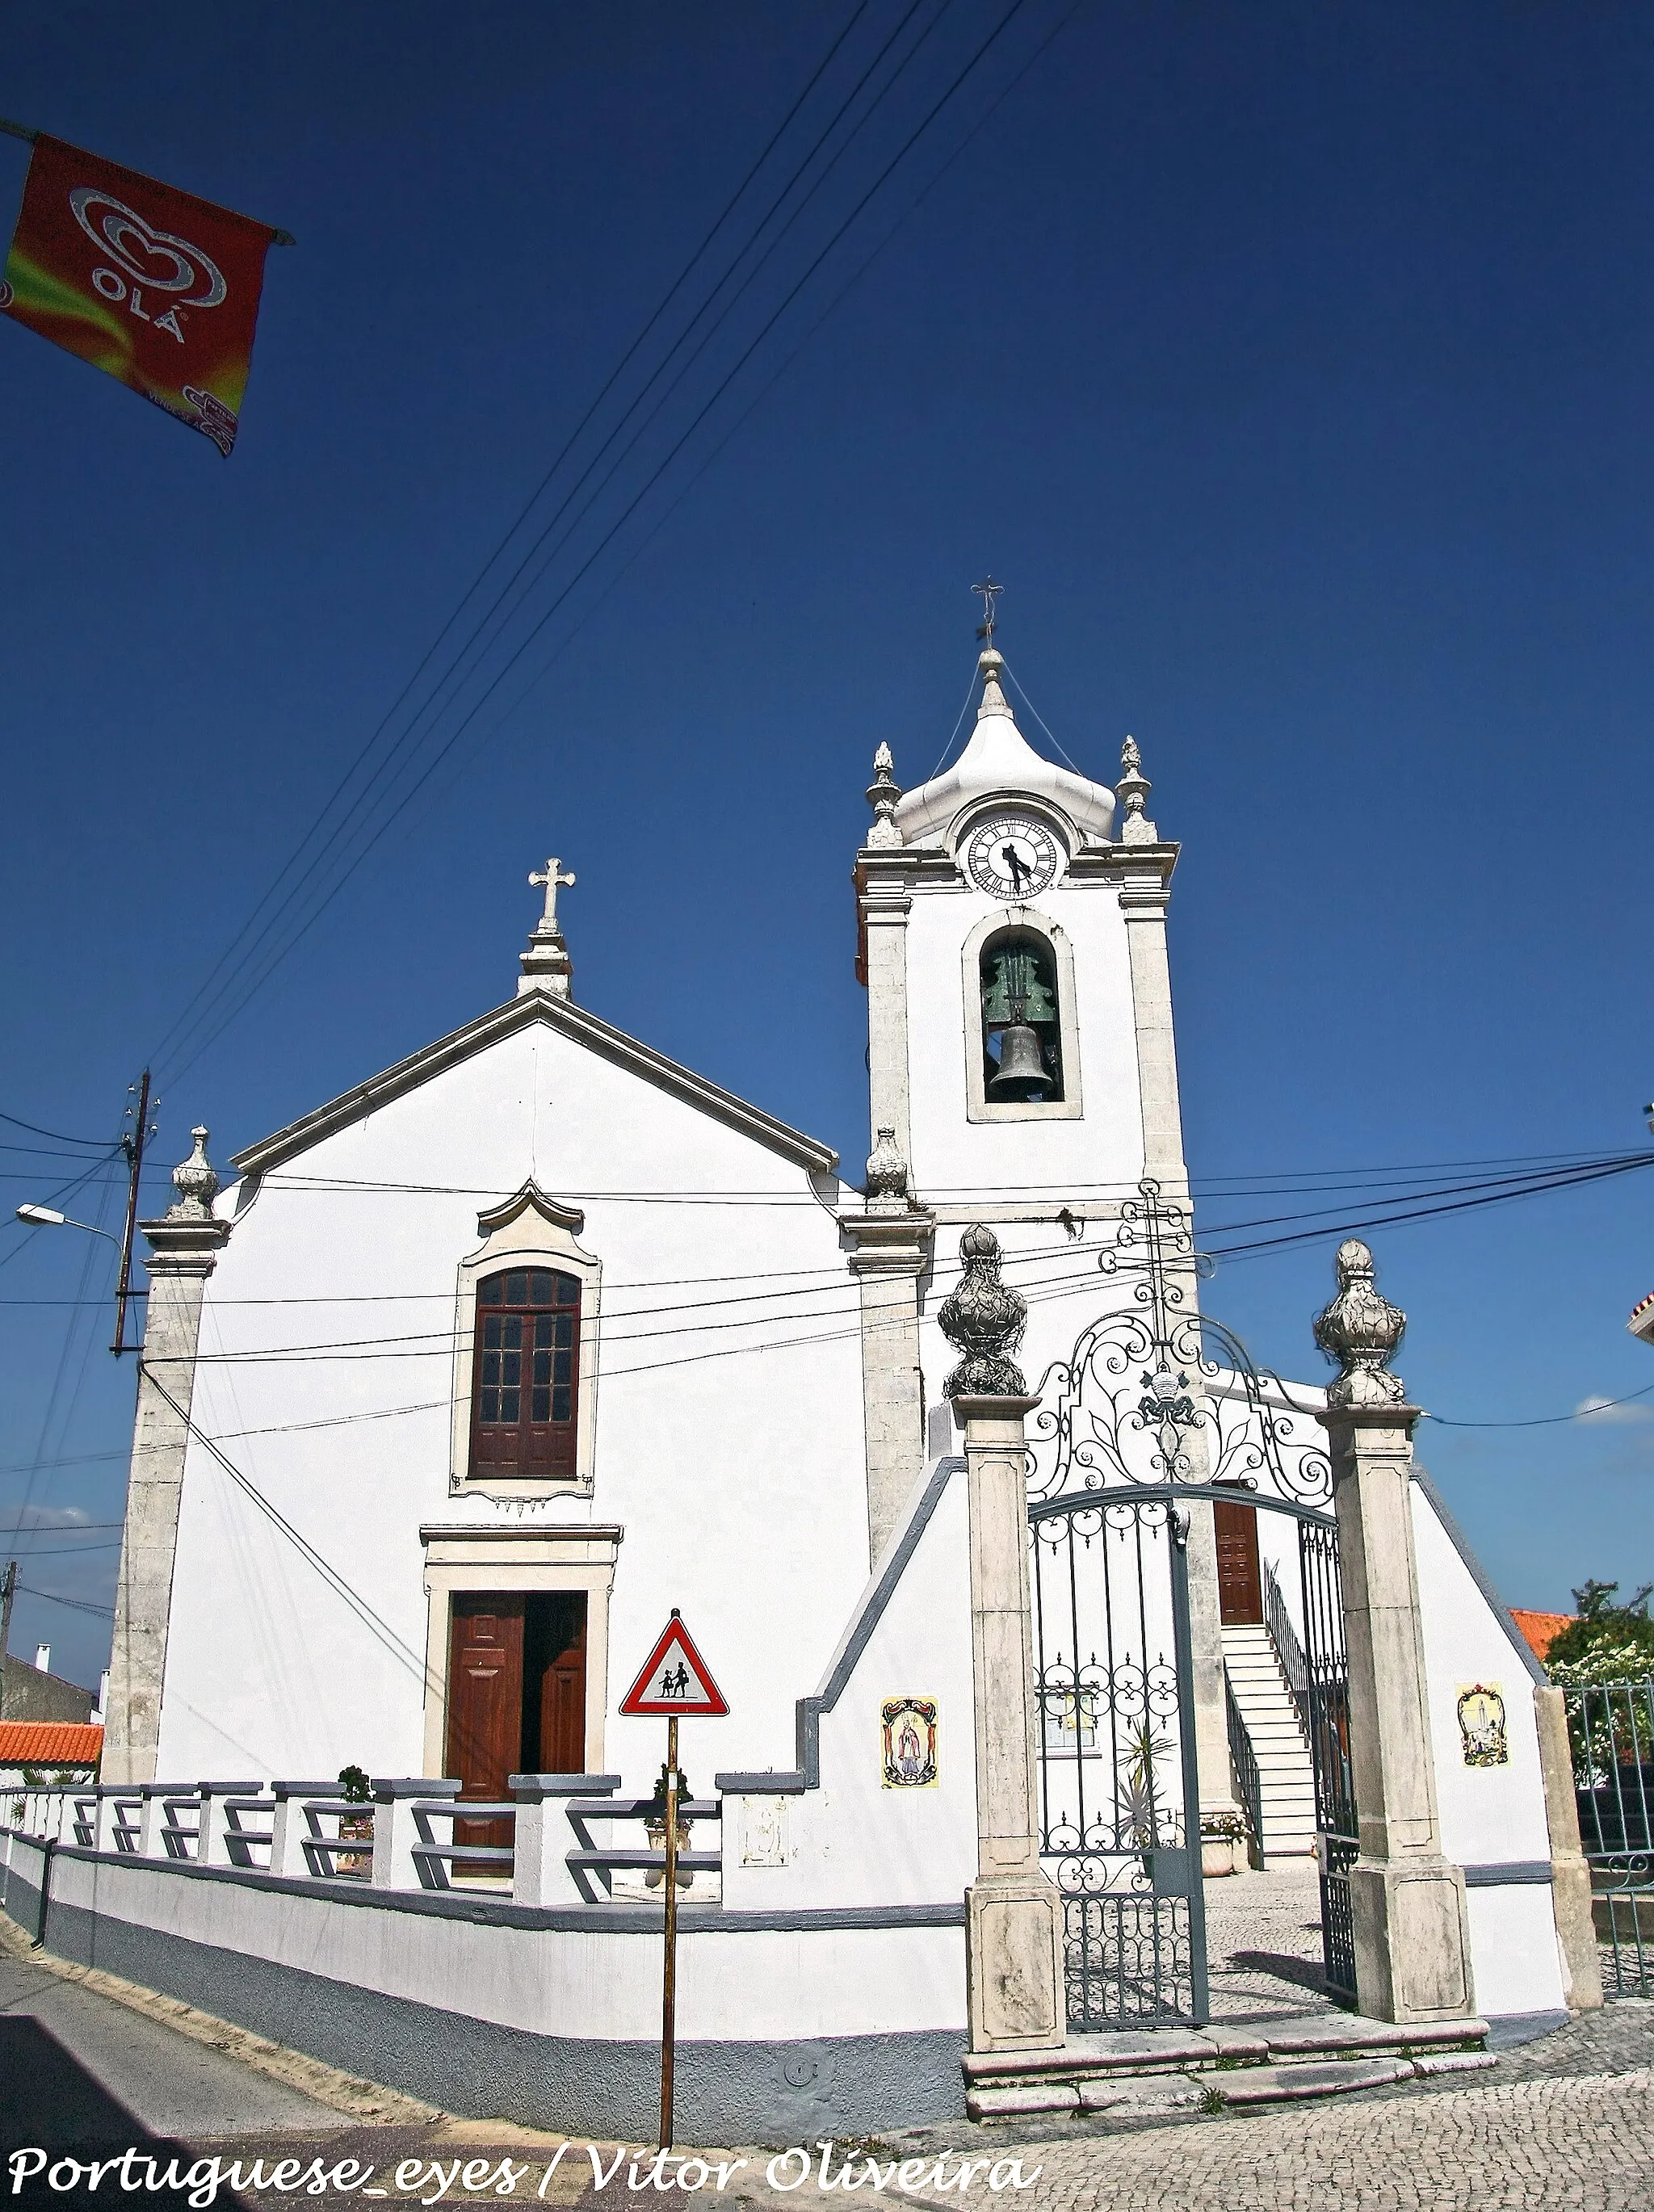
[[[929,24],[531,617],[1006,4],[9,11],[7,113],[299,246],[230,462],[0,327],[0,1108],[117,1130],[838,29],[776,159]],[[579,998],[856,1164],[860,794],[880,739],[931,772],[984,568],[1064,748],[1112,781],[1132,730],[1183,841],[1196,1175],[1647,1141],[1647,13],[1066,4],[1024,0],[301,947],[172,1053],[164,1166],[509,995],[546,849]],[[24,166],[0,142],[0,219]],[[7,1210],[73,1172],[0,1161]],[[1378,1237],[1415,1396],[1539,1420],[1654,1383],[1652,1219],[1632,1175]],[[1316,1376],[1331,1243],[1205,1303]],[[0,1522],[35,1460],[31,1520],[119,1520],[133,1363],[73,1303],[108,1272],[0,1230]],[[1512,1601],[1654,1577],[1654,1398],[1422,1455]],[[106,1604],[115,1551],[75,1551],[113,1535],[31,1535],[24,1584]],[[22,1597],[13,1648],[46,1637],[95,1679],[97,1615]]]

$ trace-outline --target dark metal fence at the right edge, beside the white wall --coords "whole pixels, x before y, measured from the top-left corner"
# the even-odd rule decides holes
[[[1563,1690],[1610,1997],[1654,1997],[1654,1681]]]

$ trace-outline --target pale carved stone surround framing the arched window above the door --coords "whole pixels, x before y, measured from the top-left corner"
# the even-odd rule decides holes
[[[482,1243],[458,1267],[453,1296],[453,1420],[449,1491],[475,1498],[590,1498],[597,1464],[597,1343],[604,1263],[577,1241],[586,1217],[535,1183],[478,1214]],[[559,1267],[579,1281],[579,1363],[575,1378],[573,1475],[471,1475],[471,1396],[475,1380],[478,1283],[502,1267]]]

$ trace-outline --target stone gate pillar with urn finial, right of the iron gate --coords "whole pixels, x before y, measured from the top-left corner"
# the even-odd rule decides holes
[[[1413,1555],[1413,1427],[1389,1360],[1406,1316],[1373,1287],[1373,1254],[1338,1248],[1338,1296],[1316,1343],[1340,1363],[1327,1391],[1349,1652],[1349,1759],[1360,1856],[1349,1869],[1355,2002],[1369,2020],[1468,2020],[1464,1871],[1442,1856]]]

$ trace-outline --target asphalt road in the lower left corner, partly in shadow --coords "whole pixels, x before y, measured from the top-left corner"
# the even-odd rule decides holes
[[[7,2150],[338,2128],[338,2112],[303,2090],[113,1997],[0,1953],[0,2143]]]

